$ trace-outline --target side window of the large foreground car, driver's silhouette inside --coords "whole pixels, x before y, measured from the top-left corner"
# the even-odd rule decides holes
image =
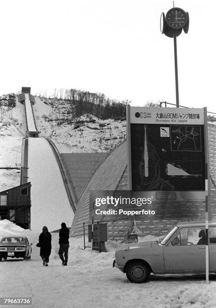
[[[205,245],[205,229],[203,227],[183,228],[180,232],[181,246]]]

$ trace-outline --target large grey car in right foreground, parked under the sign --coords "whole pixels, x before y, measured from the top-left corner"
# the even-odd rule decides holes
[[[179,223],[159,241],[118,248],[113,266],[136,283],[145,282],[150,273],[205,273],[205,243],[205,223]],[[216,273],[216,222],[209,222],[209,273]]]

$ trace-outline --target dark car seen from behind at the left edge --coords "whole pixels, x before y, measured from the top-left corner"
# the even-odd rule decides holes
[[[0,262],[2,259],[23,258],[24,260],[31,259],[32,244],[29,244],[26,237],[4,237],[0,241]]]

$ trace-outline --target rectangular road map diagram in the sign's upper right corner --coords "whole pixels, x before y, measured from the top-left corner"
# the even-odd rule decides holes
[[[171,151],[201,151],[200,126],[171,126]]]

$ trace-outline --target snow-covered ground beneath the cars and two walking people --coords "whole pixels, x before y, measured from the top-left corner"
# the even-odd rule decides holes
[[[20,233],[12,222],[0,221],[0,235]],[[42,229],[42,226],[41,226]],[[29,233],[23,230],[23,234]],[[0,263],[0,296],[32,297],[32,307],[145,307],[207,308],[215,307],[216,277],[210,275],[151,275],[146,283],[133,284],[119,269],[113,268],[119,242],[106,243],[107,253],[83,250],[83,238],[70,238],[68,266],[58,256],[58,233],[52,233],[49,266],[39,257],[39,234],[27,235],[32,245],[31,261],[10,259]],[[149,240],[146,237],[145,240]],[[87,242],[86,245],[90,243]],[[88,246],[87,245],[87,246]],[[11,305],[15,307],[15,305]]]

